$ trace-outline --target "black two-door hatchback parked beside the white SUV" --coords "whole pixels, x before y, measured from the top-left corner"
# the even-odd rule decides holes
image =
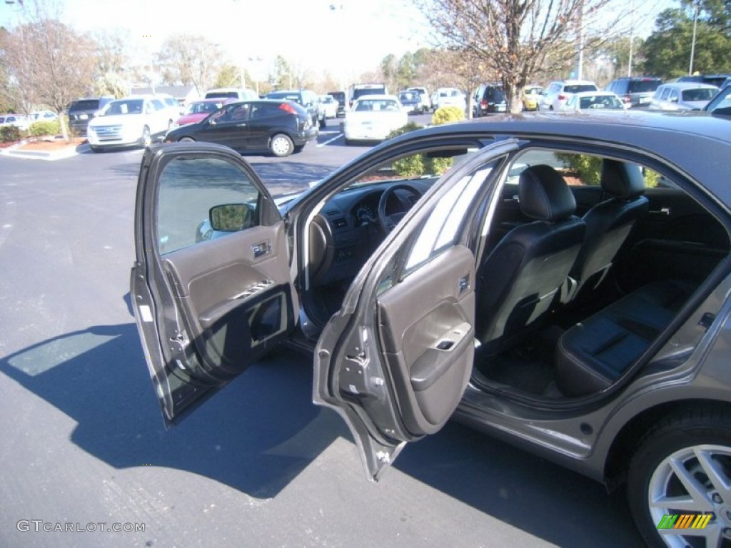
[[[289,156],[315,138],[317,126],[299,104],[262,99],[227,104],[200,122],[167,132],[164,142],[217,142],[239,153]]]

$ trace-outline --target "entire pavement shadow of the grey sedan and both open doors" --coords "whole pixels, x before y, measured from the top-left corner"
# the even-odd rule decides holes
[[[133,323],[44,340],[1,359],[0,372],[71,417],[71,441],[108,465],[177,468],[273,498],[336,438],[352,443],[339,416],[313,405],[311,363],[277,351],[172,430]],[[348,465],[359,465],[355,454]],[[395,468],[558,546],[642,545],[626,505],[601,485],[456,423],[410,444]]]

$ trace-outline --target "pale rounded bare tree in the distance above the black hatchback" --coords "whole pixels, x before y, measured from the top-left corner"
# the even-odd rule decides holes
[[[223,60],[219,45],[194,34],[173,34],[157,53],[165,83],[194,85],[201,95],[216,81]]]

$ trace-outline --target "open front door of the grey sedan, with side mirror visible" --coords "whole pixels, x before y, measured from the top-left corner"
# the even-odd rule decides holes
[[[293,329],[287,235],[249,164],[219,145],[156,145],[140,168],[137,328],[166,423]]]

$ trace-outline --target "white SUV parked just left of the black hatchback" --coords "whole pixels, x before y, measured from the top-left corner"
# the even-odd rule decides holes
[[[145,147],[153,137],[167,132],[175,119],[164,97],[131,95],[107,103],[89,121],[86,137],[94,152],[134,145]]]

